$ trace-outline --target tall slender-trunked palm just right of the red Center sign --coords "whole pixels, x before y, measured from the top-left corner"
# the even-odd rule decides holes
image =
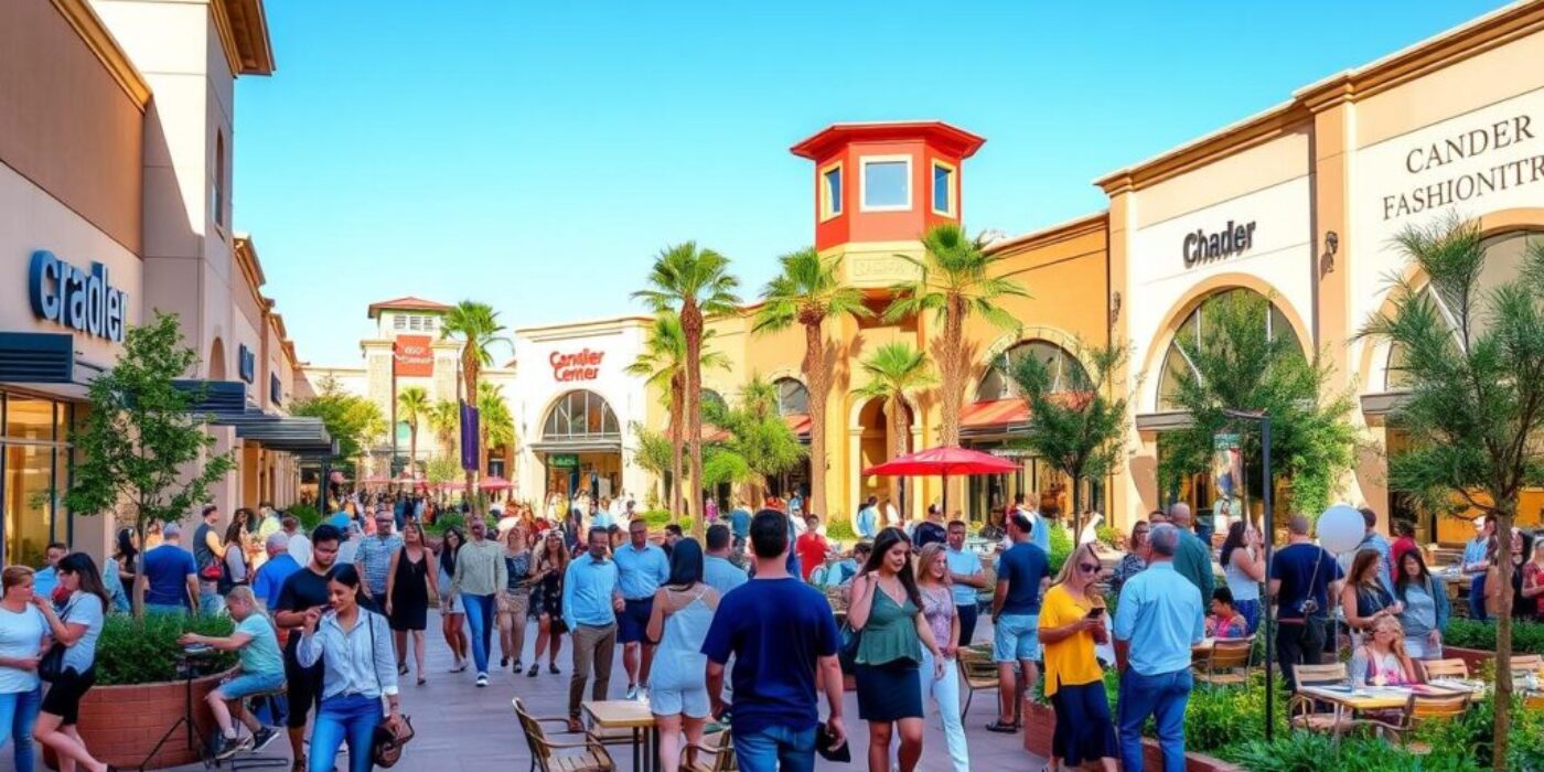
[[[648,284],[650,289],[638,290],[633,296],[642,298],[655,312],[675,310],[686,335],[686,429],[692,443],[687,513],[692,516],[692,534],[701,539],[707,530],[701,516],[704,321],[709,313],[740,310],[740,296],[735,295],[740,279],[729,273],[729,258],[687,241],[667,247],[655,258]]]

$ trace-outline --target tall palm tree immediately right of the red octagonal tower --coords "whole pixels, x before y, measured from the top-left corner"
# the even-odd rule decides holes
[[[965,401],[965,377],[970,350],[965,349],[965,320],[980,317],[1004,330],[1022,329],[1002,306],[1001,298],[1027,298],[1028,290],[1016,279],[994,275],[1001,255],[988,255],[980,239],[971,239],[954,224],[934,225],[922,236],[923,259],[899,258],[917,266],[913,283],[892,287],[896,298],[885,309],[885,321],[899,321],[922,312],[934,312],[943,323],[943,334],[934,341],[942,372],[942,426],[939,445],[960,443],[960,408]]]

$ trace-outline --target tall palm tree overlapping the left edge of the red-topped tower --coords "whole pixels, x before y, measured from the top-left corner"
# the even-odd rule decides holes
[[[803,249],[778,258],[783,273],[761,290],[755,332],[778,332],[798,323],[804,327],[804,381],[809,384],[809,511],[826,513],[826,397],[831,366],[826,361],[828,318],[872,317],[863,292],[841,284],[841,258],[821,258]]]

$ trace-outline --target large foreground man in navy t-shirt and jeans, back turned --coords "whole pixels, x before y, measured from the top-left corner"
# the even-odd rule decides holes
[[[787,517],[757,513],[750,522],[755,579],[730,590],[703,642],[713,715],[724,706],[724,664],[735,658],[730,730],[743,772],[815,769],[815,670],[820,669],[832,746],[846,741],[841,724],[841,664],[837,621],[818,590],[787,571]]]

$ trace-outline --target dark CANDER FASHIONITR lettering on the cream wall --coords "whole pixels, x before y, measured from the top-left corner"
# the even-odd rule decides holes
[[[1475,161],[1508,147],[1535,141],[1533,116],[1512,116],[1484,127],[1422,142],[1405,151],[1405,171],[1420,182],[1383,196],[1383,221],[1450,207],[1488,193],[1544,181],[1544,151],[1505,159]],[[1464,171],[1447,167],[1467,162]],[[1479,168],[1475,165],[1479,164]],[[1444,173],[1445,171],[1445,173]]]

